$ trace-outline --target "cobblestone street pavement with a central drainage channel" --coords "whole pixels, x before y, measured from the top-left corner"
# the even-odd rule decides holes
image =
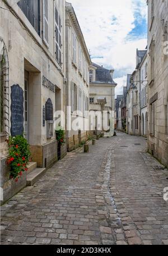
[[[55,163],[1,207],[1,244],[168,244],[167,170],[118,133]]]

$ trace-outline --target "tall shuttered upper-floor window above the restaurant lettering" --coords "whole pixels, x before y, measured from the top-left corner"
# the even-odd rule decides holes
[[[62,48],[62,38],[61,38],[61,17],[58,13],[57,7],[55,7],[55,59],[58,61],[59,65],[62,65],[61,58],[61,48]]]

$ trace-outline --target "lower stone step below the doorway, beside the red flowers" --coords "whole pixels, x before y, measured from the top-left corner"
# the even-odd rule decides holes
[[[45,173],[46,168],[35,168],[27,174],[27,186],[32,186],[40,179]]]

